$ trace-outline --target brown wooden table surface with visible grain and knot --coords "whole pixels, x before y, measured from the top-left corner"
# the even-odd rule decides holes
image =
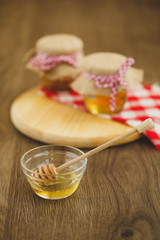
[[[134,56],[145,83],[160,82],[160,2],[1,1],[0,239],[160,239],[160,153],[148,139],[91,157],[73,196],[43,200],[30,189],[21,156],[42,145],[11,124],[13,100],[37,85],[24,53],[49,33],[71,33],[85,53]]]

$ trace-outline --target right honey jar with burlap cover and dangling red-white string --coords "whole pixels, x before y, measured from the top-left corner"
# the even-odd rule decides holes
[[[127,100],[128,88],[143,81],[143,70],[131,67],[135,60],[118,53],[93,53],[84,58],[82,74],[71,84],[84,96],[93,114],[119,112]]]

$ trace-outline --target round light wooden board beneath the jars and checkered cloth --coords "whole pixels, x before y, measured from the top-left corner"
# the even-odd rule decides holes
[[[132,127],[58,103],[38,94],[38,87],[20,95],[11,106],[11,120],[23,134],[44,143],[96,147]],[[135,134],[120,142],[140,138]]]

